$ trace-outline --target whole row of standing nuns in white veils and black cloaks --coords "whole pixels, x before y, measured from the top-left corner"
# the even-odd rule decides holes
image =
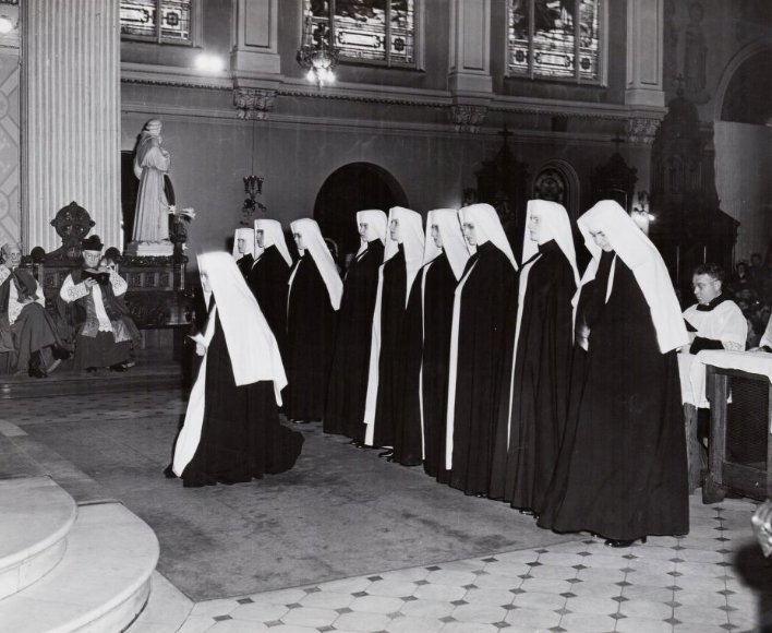
[[[237,231],[276,335],[286,416],[503,500],[556,532],[626,547],[688,532],[676,349],[688,343],[656,248],[615,202],[578,220],[531,201],[520,267],[493,207],[357,214],[341,283],[311,219]],[[241,230],[241,229],[240,229]],[[254,244],[254,250],[252,246]],[[243,256],[242,256],[243,255]]]

